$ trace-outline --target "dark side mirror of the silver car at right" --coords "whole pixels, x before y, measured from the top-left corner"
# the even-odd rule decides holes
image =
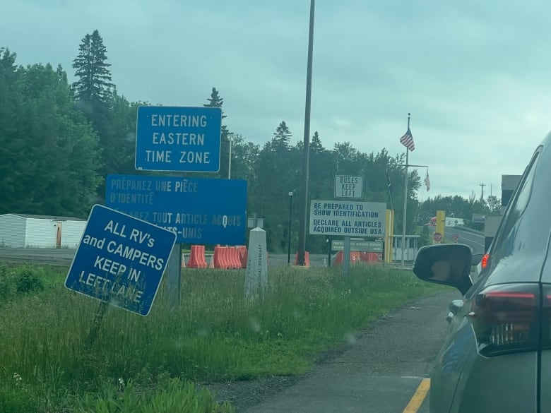
[[[422,247],[415,256],[413,273],[420,280],[456,287],[465,295],[473,283],[470,267],[473,251],[464,244],[439,244]]]

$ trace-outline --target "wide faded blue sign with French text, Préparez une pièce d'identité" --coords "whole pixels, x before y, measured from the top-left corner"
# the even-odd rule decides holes
[[[243,245],[247,181],[107,175],[105,205],[177,234],[177,242]]]

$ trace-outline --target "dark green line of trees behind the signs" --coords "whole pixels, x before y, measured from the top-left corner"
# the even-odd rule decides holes
[[[0,214],[85,218],[91,205],[104,203],[107,174],[144,173],[134,168],[136,110],[149,103],[129,102],[120,95],[109,67],[107,48],[97,30],[81,41],[72,64],[76,78],[72,84],[61,65],[20,66],[15,52],[0,48]],[[206,102],[198,102],[220,108],[223,103],[216,88]],[[266,143],[259,145],[223,124],[220,172],[186,176],[227,178],[231,145],[231,177],[247,180],[247,215],[263,218],[268,251],[287,251],[289,222],[295,251],[304,144],[301,139],[292,143],[285,121],[274,126],[271,138],[264,137]],[[325,148],[315,131],[309,145],[308,199],[333,199],[336,174],[364,176],[363,200],[393,208],[396,233],[401,233],[404,163],[404,154],[392,156],[385,148],[364,153],[349,142]],[[408,171],[408,232],[418,222],[428,222],[434,208],[467,218],[490,209],[482,200],[458,196],[420,203],[420,187],[417,170]],[[295,195],[292,199],[290,192]],[[291,202],[295,208],[290,216]],[[307,234],[307,250],[325,251],[326,239]]]

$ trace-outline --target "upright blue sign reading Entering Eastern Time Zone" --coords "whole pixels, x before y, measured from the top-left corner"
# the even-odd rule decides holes
[[[219,107],[138,107],[136,169],[218,172]]]

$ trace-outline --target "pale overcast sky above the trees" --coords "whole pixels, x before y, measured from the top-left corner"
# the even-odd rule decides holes
[[[97,29],[131,101],[224,98],[230,131],[263,145],[284,120],[303,139],[309,0],[0,0],[18,64],[71,63]],[[311,135],[428,165],[428,196],[490,191],[551,130],[551,2],[318,0]],[[425,168],[417,168],[422,178]],[[365,176],[368,180],[369,176]],[[333,183],[329,183],[331,185]]]

